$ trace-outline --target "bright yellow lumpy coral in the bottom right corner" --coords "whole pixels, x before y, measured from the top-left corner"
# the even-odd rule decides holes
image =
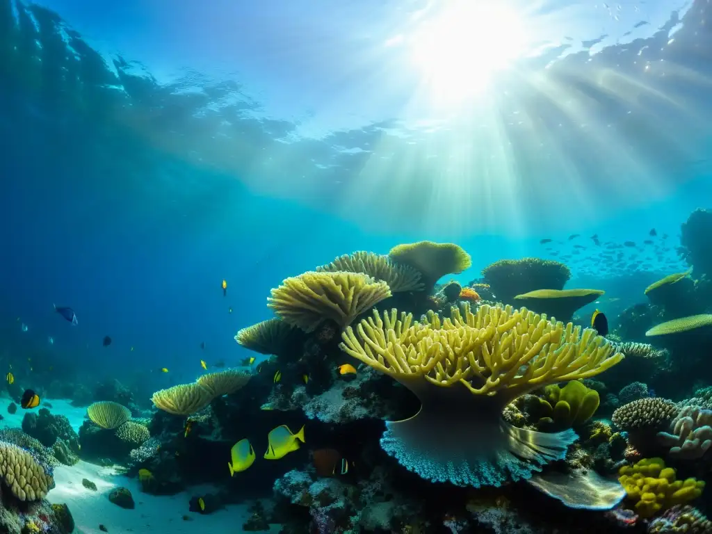
[[[618,473],[627,499],[635,503],[635,511],[642,518],[688,503],[701,496],[705,487],[704,481],[695,478],[676,480],[675,469],[666,467],[661,458],[642,459],[633,466],[623,466]]]

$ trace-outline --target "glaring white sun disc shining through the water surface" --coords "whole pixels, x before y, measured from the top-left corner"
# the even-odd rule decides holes
[[[437,103],[478,95],[493,74],[525,53],[525,23],[501,1],[456,0],[410,39],[412,58]]]

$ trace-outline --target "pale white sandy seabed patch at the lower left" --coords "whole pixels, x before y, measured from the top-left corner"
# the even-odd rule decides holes
[[[82,486],[82,478],[95,483],[97,491]],[[136,478],[117,475],[113,468],[85,461],[71,467],[55,468],[54,480],[56,488],[48,493],[47,499],[69,506],[76,524],[75,532],[80,534],[100,534],[99,525],[105,525],[110,534],[239,533],[243,532],[242,524],[250,516],[244,505],[229,505],[208,515],[190,512],[190,498],[211,493],[214,488],[210,486],[194,486],[190,493],[174,496],[153,496],[142,493]],[[109,501],[109,493],[119,486],[131,491],[136,508],[125,510]],[[184,520],[184,515],[191,520]],[[271,527],[270,532],[279,531],[279,525]]]

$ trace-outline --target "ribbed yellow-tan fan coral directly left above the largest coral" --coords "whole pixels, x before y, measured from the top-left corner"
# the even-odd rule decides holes
[[[272,290],[268,306],[283,320],[305,332],[313,332],[323,321],[340,327],[391,296],[387,283],[363,273],[303,273],[287,278]]]

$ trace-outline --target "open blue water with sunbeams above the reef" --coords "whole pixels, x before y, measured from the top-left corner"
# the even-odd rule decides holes
[[[201,359],[248,355],[233,336],[271,316],[283,278],[421,239],[463,246],[470,281],[543,254],[543,238],[655,227],[672,263],[652,261],[654,280],[712,198],[701,2],[515,5],[539,51],[456,103],[431,99],[392,46],[437,15],[430,2],[204,4],[0,0],[10,352],[178,383]],[[642,300],[589,253],[570,287]]]

